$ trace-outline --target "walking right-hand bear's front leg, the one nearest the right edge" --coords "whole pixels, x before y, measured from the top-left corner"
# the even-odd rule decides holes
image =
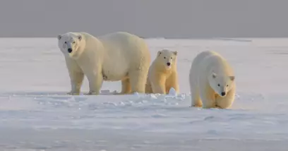
[[[220,109],[227,109],[231,107],[232,103],[235,99],[235,88],[232,87],[232,90],[227,92],[227,95],[225,97],[216,97],[216,106]]]

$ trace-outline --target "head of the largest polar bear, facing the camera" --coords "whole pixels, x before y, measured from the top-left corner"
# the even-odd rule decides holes
[[[64,56],[78,58],[83,52],[83,36],[80,33],[67,32],[57,36],[58,47]]]

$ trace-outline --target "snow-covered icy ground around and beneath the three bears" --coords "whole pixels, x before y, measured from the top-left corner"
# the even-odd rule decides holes
[[[179,52],[181,94],[66,95],[56,38],[0,39],[0,150],[287,150],[288,39],[147,42],[152,59],[160,49]],[[188,71],[204,50],[234,67],[231,109],[189,107]]]

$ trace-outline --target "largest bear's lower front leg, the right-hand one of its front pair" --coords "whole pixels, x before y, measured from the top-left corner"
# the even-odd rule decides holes
[[[102,73],[91,73],[91,75],[87,75],[87,78],[89,82],[89,92],[85,95],[99,95],[103,83]]]

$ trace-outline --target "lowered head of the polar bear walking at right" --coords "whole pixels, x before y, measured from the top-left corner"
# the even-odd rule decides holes
[[[212,72],[208,80],[212,89],[221,97],[225,97],[227,92],[229,92],[229,90],[231,90],[234,85],[235,76],[222,75]]]

